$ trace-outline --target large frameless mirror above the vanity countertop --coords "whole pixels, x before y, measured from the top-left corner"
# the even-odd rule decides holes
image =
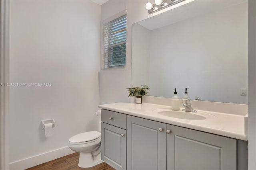
[[[150,96],[247,104],[248,2],[196,0],[132,26],[132,82]]]

